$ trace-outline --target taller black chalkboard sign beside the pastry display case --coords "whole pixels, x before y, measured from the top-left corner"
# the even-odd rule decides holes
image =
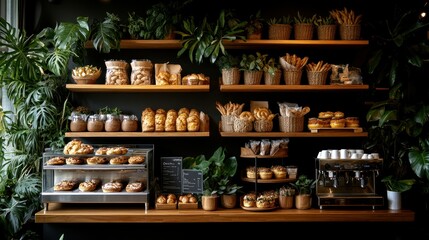
[[[164,193],[180,194],[182,188],[182,158],[161,157],[161,189]]]

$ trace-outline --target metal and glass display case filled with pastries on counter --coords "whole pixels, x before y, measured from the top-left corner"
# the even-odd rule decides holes
[[[48,211],[49,203],[142,203],[147,212],[154,146],[87,146],[93,150],[66,145],[44,152],[44,211]]]

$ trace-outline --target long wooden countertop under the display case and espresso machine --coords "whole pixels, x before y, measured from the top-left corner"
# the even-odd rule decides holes
[[[36,223],[201,223],[201,222],[414,222],[412,210],[275,209],[253,212],[241,208],[156,210],[144,205],[50,203],[36,213]]]

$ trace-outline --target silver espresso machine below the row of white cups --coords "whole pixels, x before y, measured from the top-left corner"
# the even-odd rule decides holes
[[[323,207],[383,206],[376,183],[383,167],[382,159],[316,158],[316,194]]]

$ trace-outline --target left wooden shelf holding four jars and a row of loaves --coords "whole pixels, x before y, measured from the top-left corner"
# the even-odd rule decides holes
[[[210,132],[66,132],[65,137],[209,137]]]

